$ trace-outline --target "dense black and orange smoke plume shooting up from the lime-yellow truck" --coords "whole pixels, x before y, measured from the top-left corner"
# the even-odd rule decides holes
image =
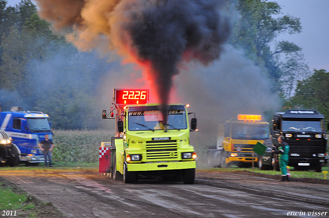
[[[181,61],[204,65],[220,57],[229,33],[218,0],[37,0],[40,15],[54,27],[73,28],[67,36],[80,49],[116,49],[143,68],[166,110],[173,76]],[[167,113],[163,113],[167,114]],[[166,122],[166,117],[164,117]]]

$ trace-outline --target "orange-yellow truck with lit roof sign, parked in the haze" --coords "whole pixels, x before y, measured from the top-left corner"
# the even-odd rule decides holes
[[[257,163],[257,154],[252,157],[252,149],[257,142],[264,143],[269,138],[269,124],[261,115],[238,114],[237,119],[218,125],[217,144],[209,146],[207,165],[209,167],[242,167]]]

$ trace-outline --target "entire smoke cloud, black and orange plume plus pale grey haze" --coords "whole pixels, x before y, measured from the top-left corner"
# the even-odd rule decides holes
[[[79,49],[116,51],[139,67],[108,72],[101,85],[105,106],[113,88],[149,88],[162,105],[191,104],[200,138],[207,142],[215,141],[219,123],[238,113],[262,114],[280,104],[266,72],[225,45],[232,22],[220,14],[225,1],[36,2],[41,17],[58,30],[70,30],[67,39]]]

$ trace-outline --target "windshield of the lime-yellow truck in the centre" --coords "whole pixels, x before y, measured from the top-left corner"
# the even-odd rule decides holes
[[[187,129],[185,110],[169,110],[167,129]],[[159,110],[131,111],[128,114],[130,131],[163,129],[162,114]]]

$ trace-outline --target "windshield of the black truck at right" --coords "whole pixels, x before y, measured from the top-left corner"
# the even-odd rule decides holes
[[[282,131],[324,132],[323,121],[282,121]]]

